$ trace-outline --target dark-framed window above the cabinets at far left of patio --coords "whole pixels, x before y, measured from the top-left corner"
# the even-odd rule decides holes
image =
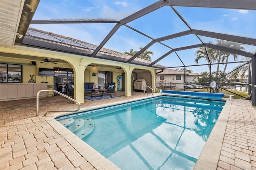
[[[22,83],[22,65],[0,63],[0,83]]]

